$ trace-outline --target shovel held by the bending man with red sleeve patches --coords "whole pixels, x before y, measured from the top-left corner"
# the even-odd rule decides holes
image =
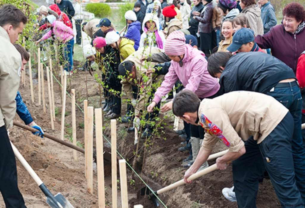
[[[221,151],[221,152],[217,152],[217,153],[215,153],[215,154],[211,154],[211,155],[208,157],[207,160],[216,159],[216,158],[218,158],[218,157],[223,156],[223,155],[226,154],[227,152],[228,152],[228,150],[224,150],[224,151]],[[208,173],[210,173],[210,172],[212,172],[212,171],[214,171],[214,170],[216,170],[216,169],[217,169],[216,164],[211,165],[210,167],[207,167],[207,168],[205,168],[205,169],[203,169],[203,170],[201,170],[201,171],[199,171],[199,172],[194,173],[193,175],[191,175],[191,176],[188,178],[188,180],[190,180],[190,181],[195,180],[195,179],[197,179],[197,178],[199,178],[199,177],[201,177],[201,176],[203,176],[203,175],[206,175],[206,174],[208,174]],[[175,182],[175,183],[173,183],[173,184],[170,184],[170,185],[168,185],[168,186],[166,186],[166,187],[164,187],[164,188],[162,188],[162,189],[159,189],[159,190],[156,191],[156,192],[152,192],[150,188],[144,187],[144,188],[142,188],[142,189],[138,192],[137,196],[138,196],[138,198],[139,198],[139,195],[141,195],[141,196],[149,195],[150,199],[153,201],[153,203],[155,204],[155,206],[159,206],[159,201],[158,201],[158,199],[157,199],[156,196],[158,196],[159,194],[162,194],[162,193],[164,193],[164,192],[167,192],[167,191],[169,191],[169,190],[171,190],[171,189],[177,188],[178,186],[183,185],[183,184],[185,184],[185,182],[184,182],[183,179],[181,179],[180,181],[177,181],[177,182]]]

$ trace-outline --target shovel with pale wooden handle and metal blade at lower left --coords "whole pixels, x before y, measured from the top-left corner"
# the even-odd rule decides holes
[[[74,208],[70,204],[70,202],[61,194],[58,193],[55,196],[52,195],[52,193],[49,191],[49,189],[46,187],[46,185],[41,181],[41,179],[38,177],[38,175],[34,172],[33,168],[27,163],[27,161],[22,157],[20,152],[16,149],[16,147],[11,142],[14,154],[16,158],[20,161],[20,163],[23,165],[23,167],[29,172],[30,176],[34,179],[34,181],[37,183],[41,191],[45,194],[47,197],[47,203],[52,208]]]

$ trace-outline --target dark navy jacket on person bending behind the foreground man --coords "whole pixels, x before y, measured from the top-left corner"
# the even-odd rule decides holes
[[[267,93],[279,81],[289,78],[296,76],[282,61],[269,54],[248,52],[230,58],[219,83],[223,93],[237,90]]]

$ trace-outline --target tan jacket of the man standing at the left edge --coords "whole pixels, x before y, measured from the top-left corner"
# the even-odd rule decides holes
[[[13,126],[16,114],[15,98],[19,88],[21,55],[0,26],[0,127]]]

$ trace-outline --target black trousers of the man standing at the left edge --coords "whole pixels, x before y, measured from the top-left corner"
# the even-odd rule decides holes
[[[0,191],[7,208],[24,208],[18,189],[15,154],[5,126],[0,127]]]

